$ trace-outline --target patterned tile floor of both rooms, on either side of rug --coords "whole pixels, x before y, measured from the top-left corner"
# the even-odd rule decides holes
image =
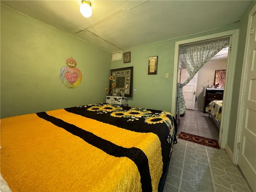
[[[218,140],[216,131],[218,128],[214,128],[215,124],[210,120],[208,114],[187,110],[178,132],[183,131]],[[190,128],[191,132],[188,132],[187,128]],[[204,132],[201,133],[200,130]],[[232,164],[224,149],[178,139],[178,144],[174,145],[172,152],[164,192],[252,192],[252,190],[248,187],[239,167]]]

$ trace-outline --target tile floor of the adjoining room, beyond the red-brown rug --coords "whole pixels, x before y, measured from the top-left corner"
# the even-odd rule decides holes
[[[219,139],[219,129],[212,120],[209,118],[208,113],[198,110],[186,110],[183,117],[180,117],[180,132],[190,133],[210,139]]]

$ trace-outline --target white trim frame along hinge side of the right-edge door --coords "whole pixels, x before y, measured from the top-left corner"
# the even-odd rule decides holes
[[[248,68],[248,62],[249,62],[248,49],[249,49],[249,40],[250,40],[250,28],[252,27],[252,19],[255,12],[256,12],[256,5],[254,5],[254,7],[252,8],[248,16],[248,26],[247,26],[247,32],[246,32],[245,48],[244,48],[244,60],[243,60],[242,77],[241,77],[240,91],[239,91],[236,134],[235,134],[234,152],[233,152],[233,162],[236,165],[238,162],[238,154],[239,154],[238,143],[240,142],[240,135],[242,132],[242,122],[244,118],[243,108],[244,108],[244,94],[245,94],[245,88],[246,88],[246,69]],[[256,27],[254,27],[254,30],[256,30]]]

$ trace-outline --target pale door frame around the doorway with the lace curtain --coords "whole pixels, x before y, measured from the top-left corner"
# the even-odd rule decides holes
[[[234,73],[236,66],[236,54],[238,47],[238,36],[239,29],[229,30],[225,32],[220,32],[216,34],[201,36],[197,38],[182,40],[175,42],[175,52],[174,52],[174,72],[173,72],[173,87],[172,87],[172,108],[171,113],[176,114],[176,99],[177,99],[177,74],[178,74],[178,57],[179,57],[179,47],[182,44],[188,44],[198,41],[206,41],[213,38],[222,38],[222,37],[230,36],[230,47],[232,45],[232,49],[228,53],[228,62],[227,62],[227,74],[226,74],[226,82],[225,82],[225,90],[223,95],[223,110],[222,110],[222,121],[221,121],[221,129],[219,134],[219,144],[221,148],[227,148],[228,151],[230,149],[226,145],[228,139],[228,128],[230,121],[230,109],[231,109],[231,101],[232,101],[232,91],[233,91],[233,82],[234,82]],[[223,129],[223,127],[225,127]]]

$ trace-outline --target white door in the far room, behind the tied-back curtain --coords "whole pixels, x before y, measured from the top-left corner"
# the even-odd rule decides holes
[[[182,88],[184,100],[186,102],[186,109],[195,109],[196,103],[196,85],[197,85],[197,75],[196,73],[194,77]],[[189,77],[188,71],[186,69],[181,70],[180,75],[180,83],[184,83]]]

